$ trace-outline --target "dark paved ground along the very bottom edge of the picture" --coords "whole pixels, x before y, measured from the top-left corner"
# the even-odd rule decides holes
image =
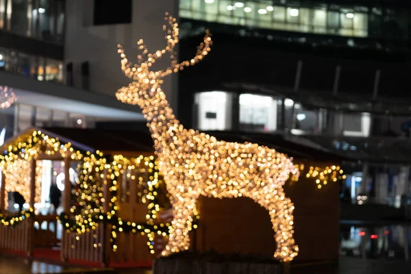
[[[341,258],[338,265],[303,265],[292,266],[290,274],[409,274],[411,262],[399,260],[362,260],[356,258]],[[44,262],[32,262],[19,258],[0,257],[0,274],[29,273],[119,273],[119,274],[151,274],[144,269],[105,270],[79,269],[73,266],[59,266]],[[183,274],[183,273],[182,273]]]

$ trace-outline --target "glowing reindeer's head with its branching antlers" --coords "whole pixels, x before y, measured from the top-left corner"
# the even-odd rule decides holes
[[[155,51],[155,53],[148,53],[149,50],[144,45],[144,41],[140,39],[137,44],[138,49],[142,51],[142,54],[138,55],[137,64],[129,62],[125,56],[123,47],[118,45],[119,53],[121,58],[123,58],[123,60],[121,60],[121,70],[127,77],[134,80],[129,86],[120,88],[116,93],[117,99],[123,103],[141,105],[143,103],[142,101],[153,99],[153,97],[162,99],[162,97],[164,97],[164,93],[161,90],[163,78],[171,73],[182,71],[187,66],[197,64],[203,60],[210,51],[212,40],[210,33],[206,31],[206,36],[204,36],[203,42],[197,47],[195,57],[189,61],[178,62],[177,52],[175,51],[175,45],[179,42],[177,20],[170,16],[169,13],[166,13],[165,21],[167,23],[163,26],[163,30],[166,32],[166,47]],[[165,53],[170,53],[171,65],[165,70],[152,70],[151,68],[155,61],[160,59]]]

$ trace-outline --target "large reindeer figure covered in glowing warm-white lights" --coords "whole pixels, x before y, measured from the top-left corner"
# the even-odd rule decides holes
[[[132,64],[119,45],[123,58],[121,69],[134,82],[116,93],[117,99],[123,103],[139,105],[142,109],[160,171],[171,194],[174,219],[169,243],[162,254],[183,251],[190,246],[188,234],[200,195],[249,197],[269,211],[277,242],[274,257],[284,262],[292,260],[298,252],[292,237],[294,206],[282,188],[290,173],[299,175],[292,159],[268,147],[249,142],[219,141],[194,129],[184,129],[162,91],[163,78],[203,60],[210,51],[212,40],[207,31],[195,57],[177,62],[174,48],[179,42],[179,28],[175,18],[168,13],[165,19],[168,22],[163,27],[167,40],[165,49],[148,53],[143,40],[139,40],[142,54],[138,55],[138,64]],[[151,70],[152,64],[167,52],[171,54],[171,66],[164,71]]]

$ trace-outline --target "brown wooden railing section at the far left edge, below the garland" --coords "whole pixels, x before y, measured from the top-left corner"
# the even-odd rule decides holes
[[[0,225],[0,249],[29,253],[32,219],[20,221],[17,225]]]

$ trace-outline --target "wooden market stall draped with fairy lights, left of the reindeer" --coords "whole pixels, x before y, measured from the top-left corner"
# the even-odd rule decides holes
[[[93,266],[151,264],[153,241],[162,240],[156,223],[169,213],[155,201],[162,179],[149,136],[32,128],[0,149],[0,251]],[[58,178],[61,214],[47,207],[47,188]],[[8,206],[12,192],[26,201],[23,212]]]

